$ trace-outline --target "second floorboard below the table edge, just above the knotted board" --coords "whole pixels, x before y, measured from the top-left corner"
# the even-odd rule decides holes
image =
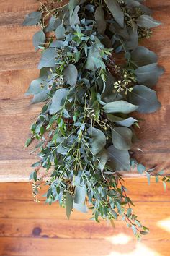
[[[148,221],[156,221],[158,213],[161,214],[161,218],[167,218],[169,216],[169,202],[135,202],[136,208],[135,214],[140,218],[140,221],[145,225]],[[60,208],[58,203],[53,205],[45,205],[44,201],[35,204],[31,201],[22,200],[7,200],[0,202],[0,218],[35,218],[37,213],[38,218],[53,219],[53,220],[66,220],[65,209]],[[147,213],[143,215],[143,213]],[[80,213],[73,210],[71,220],[89,220],[91,218],[91,210],[88,213]]]

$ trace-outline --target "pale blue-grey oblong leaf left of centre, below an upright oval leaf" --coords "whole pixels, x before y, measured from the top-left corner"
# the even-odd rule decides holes
[[[69,90],[66,88],[56,90],[50,105],[50,115],[57,113],[63,107],[63,103],[66,101],[68,92]]]

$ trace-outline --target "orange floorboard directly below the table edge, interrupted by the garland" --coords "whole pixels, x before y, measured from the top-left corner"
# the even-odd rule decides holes
[[[156,184],[155,180],[151,179],[151,185],[148,185],[146,178],[125,179],[125,187],[128,188],[128,195],[135,202],[170,202],[170,184],[167,184],[166,191],[164,191],[163,184],[159,182]],[[42,184],[40,195],[43,195],[48,186]],[[31,184],[30,183],[2,183],[0,186],[1,200],[27,200],[32,201]],[[40,198],[41,200],[43,197]],[[45,199],[44,199],[45,200]]]

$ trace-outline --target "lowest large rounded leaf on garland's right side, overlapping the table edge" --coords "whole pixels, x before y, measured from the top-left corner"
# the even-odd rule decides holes
[[[118,150],[114,145],[107,148],[109,155],[108,164],[113,171],[129,171],[130,170],[130,155],[128,150]]]

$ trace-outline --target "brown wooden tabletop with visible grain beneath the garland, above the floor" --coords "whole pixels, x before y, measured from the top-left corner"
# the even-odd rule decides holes
[[[170,1],[148,0],[154,17],[163,25],[153,31],[153,37],[143,44],[156,51],[159,62],[166,69],[156,87],[162,108],[155,114],[140,115],[147,123],[140,124],[140,142],[135,145],[137,158],[148,167],[157,164],[169,172],[170,166]],[[37,78],[39,53],[32,46],[32,35],[38,27],[22,27],[25,14],[36,10],[35,0],[0,1],[0,182],[27,181],[30,164],[35,155],[29,155],[24,142],[29,127],[40,105],[30,105],[24,96],[28,85]]]

